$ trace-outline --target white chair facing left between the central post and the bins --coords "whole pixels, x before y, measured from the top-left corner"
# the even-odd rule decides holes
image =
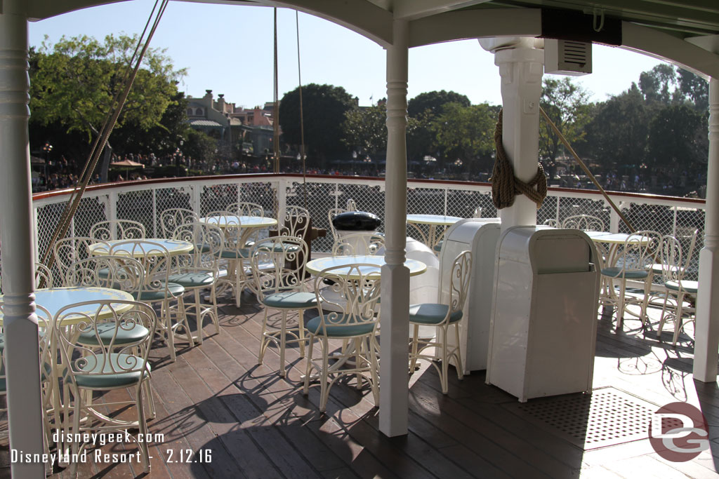
[[[418,360],[429,361],[439,373],[442,394],[449,391],[447,373],[449,361],[454,361],[457,376],[462,379],[462,351],[459,348],[459,320],[464,314],[464,303],[467,299],[467,287],[470,284],[472,271],[472,253],[462,251],[452,261],[451,297],[449,304],[423,303],[410,304],[409,322],[412,325],[412,344],[410,353],[410,371],[416,368]],[[419,338],[420,326],[436,326],[434,338]],[[447,342],[449,327],[454,327],[454,345]],[[438,366],[436,361],[440,361]]]

